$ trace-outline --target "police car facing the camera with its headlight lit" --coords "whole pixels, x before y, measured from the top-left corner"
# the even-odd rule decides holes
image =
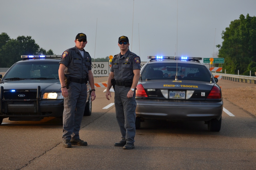
[[[0,124],[10,121],[39,121],[44,117],[62,117],[64,98],[59,81],[61,55],[21,56],[0,74]],[[91,115],[90,85],[87,83],[84,115]]]

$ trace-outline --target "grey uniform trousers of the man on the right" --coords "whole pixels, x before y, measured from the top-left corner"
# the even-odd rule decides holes
[[[127,98],[131,87],[115,85],[115,113],[120,127],[122,140],[134,143],[135,137],[135,109],[137,106],[135,92],[132,98]]]

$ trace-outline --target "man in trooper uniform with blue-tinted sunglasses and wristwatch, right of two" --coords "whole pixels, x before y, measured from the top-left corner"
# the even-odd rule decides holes
[[[114,146],[123,149],[133,149],[135,137],[135,90],[140,78],[141,59],[129,50],[129,40],[126,36],[119,37],[120,53],[115,55],[108,77],[106,98],[109,100],[110,88],[115,90],[116,119],[121,131],[122,139]]]

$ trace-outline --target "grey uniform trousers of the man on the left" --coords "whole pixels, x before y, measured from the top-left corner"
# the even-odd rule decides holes
[[[79,130],[87,99],[87,85],[70,82],[68,95],[69,97],[64,98],[62,139],[79,139]]]

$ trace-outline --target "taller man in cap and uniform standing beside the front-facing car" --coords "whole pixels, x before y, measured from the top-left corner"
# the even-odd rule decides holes
[[[59,79],[64,97],[62,139],[66,148],[70,148],[71,144],[87,146],[87,142],[80,139],[79,130],[86,105],[88,82],[92,90],[91,101],[96,97],[91,56],[84,50],[86,35],[77,34],[75,44],[75,47],[63,52],[59,63]]]

